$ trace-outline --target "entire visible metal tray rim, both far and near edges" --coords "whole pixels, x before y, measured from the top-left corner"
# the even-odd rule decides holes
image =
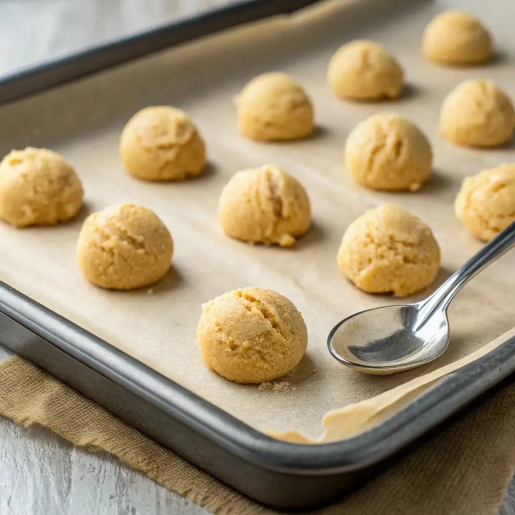
[[[269,0],[250,0],[30,67],[0,79],[0,104],[167,46],[272,14],[291,12],[314,2],[316,0],[276,0],[273,3]],[[175,35],[171,37],[174,32]],[[124,48],[130,51],[120,58]],[[104,58],[100,59],[102,55]],[[113,60],[115,57],[116,61]],[[95,59],[98,59],[96,63]],[[84,64],[85,69],[81,69]],[[185,425],[195,428],[228,452],[259,467],[294,475],[349,472],[380,462],[515,372],[514,336],[474,362],[445,376],[404,409],[365,433],[346,440],[306,445],[260,433],[3,282],[0,282],[0,313],[170,416],[180,419]],[[2,343],[8,346],[8,342]],[[124,373],[123,368],[127,367],[140,376],[138,383],[131,381]],[[163,396],[163,392],[166,395]]]

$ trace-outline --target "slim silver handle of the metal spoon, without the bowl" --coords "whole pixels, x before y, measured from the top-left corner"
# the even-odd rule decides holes
[[[450,302],[462,286],[476,274],[500,258],[515,246],[515,222],[491,239],[477,254],[458,268],[438,289],[420,304],[419,314],[427,318],[436,310],[447,310]]]

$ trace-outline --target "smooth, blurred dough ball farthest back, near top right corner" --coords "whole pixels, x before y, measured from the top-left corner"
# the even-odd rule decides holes
[[[492,38],[474,16],[463,11],[445,11],[427,24],[422,52],[437,63],[476,64],[491,59]]]

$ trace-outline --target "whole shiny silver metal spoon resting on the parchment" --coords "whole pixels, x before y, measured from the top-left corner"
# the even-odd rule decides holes
[[[393,374],[441,356],[449,345],[447,308],[477,273],[515,246],[515,222],[493,238],[427,299],[377,307],[339,322],[329,352],[340,363],[369,374]],[[513,266],[515,273],[515,265]]]

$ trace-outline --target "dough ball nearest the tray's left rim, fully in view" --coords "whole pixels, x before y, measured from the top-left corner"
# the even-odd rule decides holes
[[[152,210],[122,204],[84,221],[77,259],[90,283],[127,290],[159,281],[170,268],[173,250],[168,229]]]

